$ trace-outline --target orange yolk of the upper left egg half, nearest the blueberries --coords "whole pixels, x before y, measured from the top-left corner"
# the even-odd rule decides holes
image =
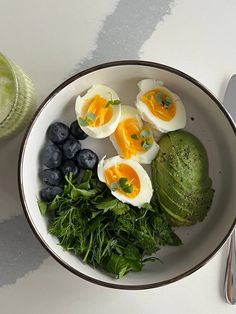
[[[113,109],[112,106],[106,106],[107,99],[100,95],[94,96],[88,101],[84,110],[83,116],[86,119],[86,114],[93,114],[94,119],[87,119],[89,126],[98,127],[108,123],[112,118]]]

